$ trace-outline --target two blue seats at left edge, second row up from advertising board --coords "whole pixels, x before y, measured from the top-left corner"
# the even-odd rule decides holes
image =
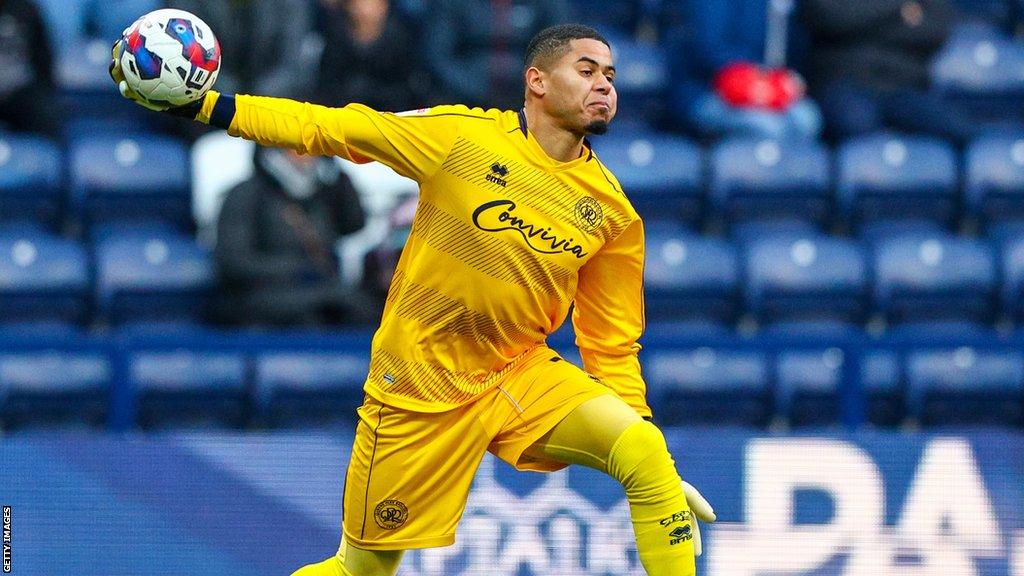
[[[0,227],[0,324],[202,322],[212,257],[159,224],[105,229],[86,245]]]

